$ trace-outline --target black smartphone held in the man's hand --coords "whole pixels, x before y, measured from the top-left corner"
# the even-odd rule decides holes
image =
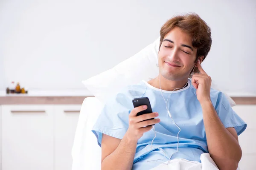
[[[135,98],[135,99],[132,100],[132,103],[134,105],[134,108],[137,108],[137,107],[142,106],[142,105],[147,105],[148,106],[148,108],[146,110],[140,111],[139,113],[137,113],[137,116],[153,112],[148,97]],[[151,118],[151,119],[154,119],[154,118]],[[148,120],[151,120],[151,119],[148,119]]]

